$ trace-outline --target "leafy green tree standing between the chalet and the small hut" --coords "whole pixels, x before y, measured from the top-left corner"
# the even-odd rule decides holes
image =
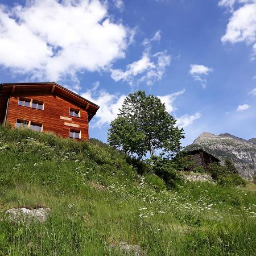
[[[138,91],[130,93],[119,109],[118,117],[110,123],[108,142],[138,158],[165,155],[168,158],[180,151],[183,129],[167,111],[158,97]]]

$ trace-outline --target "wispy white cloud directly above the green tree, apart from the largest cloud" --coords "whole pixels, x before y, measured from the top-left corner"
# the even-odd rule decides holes
[[[110,69],[114,81],[126,81],[130,86],[145,82],[147,85],[154,84],[162,79],[166,67],[171,63],[171,56],[166,51],[150,55],[143,52],[141,59],[126,66],[126,70]]]

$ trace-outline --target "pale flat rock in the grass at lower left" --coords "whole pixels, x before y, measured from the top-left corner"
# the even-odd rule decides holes
[[[27,208],[11,208],[6,210],[6,214],[12,221],[38,221],[44,222],[50,212],[49,208],[27,209]]]

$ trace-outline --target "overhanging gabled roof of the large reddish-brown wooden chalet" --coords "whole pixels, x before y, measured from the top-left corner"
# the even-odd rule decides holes
[[[44,93],[57,93],[67,98],[67,100],[75,102],[88,111],[89,121],[100,108],[100,106],[94,104],[92,101],[86,100],[86,98],[64,88],[56,82],[15,82],[0,84],[0,96],[2,97],[9,97],[11,94],[19,94],[22,92],[33,93],[38,91]]]

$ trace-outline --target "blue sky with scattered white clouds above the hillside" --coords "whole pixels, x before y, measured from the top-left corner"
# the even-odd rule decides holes
[[[101,108],[106,142],[130,92],[183,127],[256,137],[256,0],[0,0],[1,82],[56,81]]]

